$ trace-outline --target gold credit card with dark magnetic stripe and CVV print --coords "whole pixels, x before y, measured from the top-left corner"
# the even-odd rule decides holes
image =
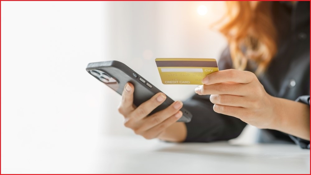
[[[213,58],[156,58],[165,85],[202,85],[202,79],[218,71]]]

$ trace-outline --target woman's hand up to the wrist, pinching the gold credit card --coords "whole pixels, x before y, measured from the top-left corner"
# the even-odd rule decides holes
[[[211,94],[214,111],[237,117],[258,128],[274,128],[273,97],[267,94],[255,74],[227,69],[206,76],[195,89],[199,95]]]

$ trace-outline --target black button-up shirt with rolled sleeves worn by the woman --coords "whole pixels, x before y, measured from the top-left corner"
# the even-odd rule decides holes
[[[272,2],[278,31],[278,52],[265,73],[258,77],[268,94],[310,105],[310,2]],[[247,70],[253,71],[248,62]],[[221,54],[220,70],[232,68],[229,48]],[[193,95],[183,105],[192,114],[186,123],[186,141],[229,140],[240,135],[246,123],[213,111],[209,95]],[[295,117],[295,116],[292,116]],[[280,131],[261,129],[260,142],[291,142],[310,149],[310,141]]]

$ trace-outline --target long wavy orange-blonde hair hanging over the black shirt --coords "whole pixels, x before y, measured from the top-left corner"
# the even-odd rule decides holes
[[[233,67],[245,70],[253,60],[261,74],[277,52],[277,32],[272,20],[272,2],[227,1],[227,14],[220,32],[228,39]]]

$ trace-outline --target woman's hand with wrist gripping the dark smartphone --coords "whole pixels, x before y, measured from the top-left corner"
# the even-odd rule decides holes
[[[133,104],[133,92],[134,86],[131,83],[127,83],[122,93],[122,101],[118,107],[119,113],[124,116],[125,127],[131,128],[135,134],[141,135],[146,139],[160,138],[169,141],[184,140],[186,135],[185,124],[181,122],[176,123],[183,115],[183,113],[179,111],[183,106],[181,101],[175,101],[169,107],[148,116],[151,111],[165,101],[165,94],[161,92],[157,93],[151,97],[151,99],[135,107]],[[182,128],[183,131],[178,132],[179,128]],[[180,133],[183,135],[180,136]]]

